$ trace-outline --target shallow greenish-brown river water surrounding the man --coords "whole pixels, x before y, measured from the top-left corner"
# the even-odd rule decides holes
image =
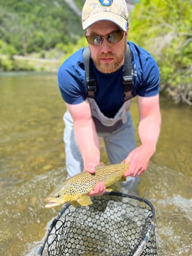
[[[163,96],[160,108],[157,152],[139,194],[155,207],[158,255],[191,256],[191,108]],[[57,76],[1,74],[0,110],[0,255],[37,255],[47,223],[61,209],[45,209],[44,198],[67,176]],[[131,112],[137,127],[135,100]],[[104,148],[102,161],[107,163]]]

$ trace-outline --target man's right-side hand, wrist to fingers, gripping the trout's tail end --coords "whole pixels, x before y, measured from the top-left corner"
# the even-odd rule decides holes
[[[125,172],[125,176],[140,176],[146,171],[148,163],[155,149],[153,146],[139,146],[131,151],[127,158],[125,158],[126,163],[130,163],[128,171]]]

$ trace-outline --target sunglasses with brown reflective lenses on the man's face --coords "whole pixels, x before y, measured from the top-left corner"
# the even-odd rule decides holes
[[[87,36],[85,34],[85,37],[87,39],[87,42],[94,46],[99,46],[104,41],[104,38],[107,39],[107,42],[110,44],[115,44],[116,42],[120,42],[121,39],[123,39],[123,30],[115,30],[114,32],[111,32],[110,34],[107,34],[106,37],[97,36],[95,34],[92,34],[90,36]]]

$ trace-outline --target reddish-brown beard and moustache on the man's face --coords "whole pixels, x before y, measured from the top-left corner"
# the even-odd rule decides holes
[[[123,65],[123,59],[125,56],[126,46],[124,51],[120,51],[120,54],[116,55],[113,53],[107,53],[107,54],[101,54],[100,56],[97,56],[97,58],[92,60],[95,62],[95,66],[97,67],[97,70],[99,70],[102,73],[109,74],[112,72],[117,71],[121,65]],[[112,63],[103,63],[100,61],[100,58],[113,58]]]

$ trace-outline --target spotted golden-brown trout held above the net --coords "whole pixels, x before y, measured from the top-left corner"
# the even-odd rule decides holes
[[[74,207],[78,204],[87,206],[92,204],[90,196],[87,194],[92,191],[94,186],[102,181],[105,184],[106,190],[111,191],[110,185],[116,181],[125,181],[125,171],[128,170],[129,163],[117,163],[111,165],[98,165],[95,167],[95,174],[90,174],[83,171],[80,174],[70,177],[52,194],[50,194],[45,201],[48,204],[46,208],[56,207],[59,204],[70,202]]]

